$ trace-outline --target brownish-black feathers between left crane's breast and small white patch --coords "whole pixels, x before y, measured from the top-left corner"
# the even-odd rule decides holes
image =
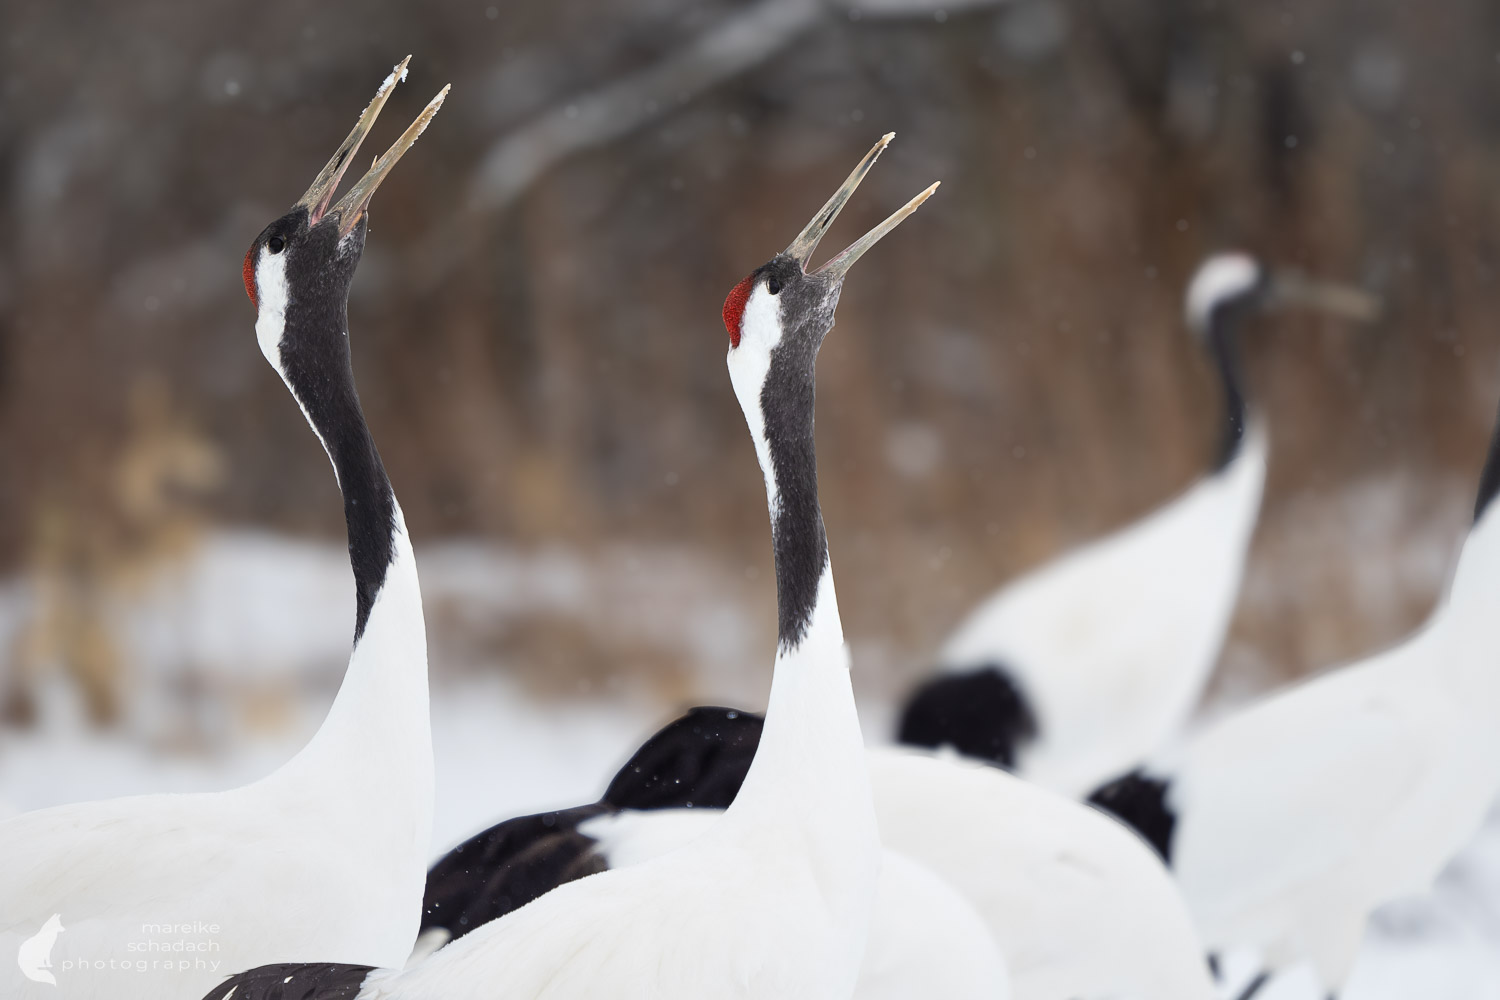
[[[609,811],[596,804],[520,816],[464,841],[428,873],[422,930],[459,939],[564,882],[604,871],[594,840],[578,826]]]

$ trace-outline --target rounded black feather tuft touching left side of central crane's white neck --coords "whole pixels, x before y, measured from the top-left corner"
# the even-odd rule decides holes
[[[616,810],[728,808],[744,784],[764,720],[702,706],[669,723],[626,762],[604,792]]]

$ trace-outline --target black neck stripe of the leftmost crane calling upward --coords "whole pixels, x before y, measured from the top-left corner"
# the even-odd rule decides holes
[[[394,558],[396,495],[375,450],[350,361],[346,303],[297,304],[286,312],[280,360],[286,381],[322,438],[344,493],[354,570],[354,642],[364,634],[375,595]]]

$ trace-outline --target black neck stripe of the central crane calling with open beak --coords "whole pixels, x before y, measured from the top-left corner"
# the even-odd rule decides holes
[[[814,360],[816,348],[778,346],[760,390],[778,499],[771,543],[776,549],[777,637],[783,649],[796,646],[807,634],[818,603],[818,582],[828,565],[813,445]]]

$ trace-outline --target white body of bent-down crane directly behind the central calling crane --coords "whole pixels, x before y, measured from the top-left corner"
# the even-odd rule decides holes
[[[1208,1000],[1214,982],[1161,861],[1112,817],[998,768],[868,751],[880,840],[984,916],[1016,1000]]]

